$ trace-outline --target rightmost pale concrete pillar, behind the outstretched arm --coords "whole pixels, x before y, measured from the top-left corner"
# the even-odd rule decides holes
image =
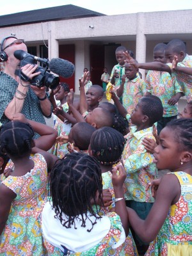
[[[145,13],[137,13],[136,28],[136,60],[140,63],[146,61],[146,36],[145,31]],[[140,69],[143,79],[145,79],[145,70]]]

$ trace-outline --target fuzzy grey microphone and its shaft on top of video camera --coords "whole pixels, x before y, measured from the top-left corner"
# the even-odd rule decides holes
[[[18,60],[23,60],[24,58],[31,57],[33,60],[39,61],[40,63],[44,63],[45,65],[49,65],[49,69],[61,77],[71,77],[74,74],[75,66],[68,60],[63,60],[61,58],[52,58],[51,61],[45,58],[39,58],[28,52],[17,50],[14,52],[15,58]]]

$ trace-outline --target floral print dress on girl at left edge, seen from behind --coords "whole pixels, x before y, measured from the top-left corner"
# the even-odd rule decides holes
[[[35,166],[23,176],[8,176],[2,183],[17,195],[0,237],[0,255],[47,255],[42,240],[40,214],[47,198],[47,163],[31,156]],[[13,168],[13,162],[8,164]]]

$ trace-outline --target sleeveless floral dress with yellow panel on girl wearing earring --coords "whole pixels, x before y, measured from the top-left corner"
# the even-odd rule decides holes
[[[174,172],[180,183],[179,201],[170,207],[168,216],[145,256],[192,255],[192,177]]]

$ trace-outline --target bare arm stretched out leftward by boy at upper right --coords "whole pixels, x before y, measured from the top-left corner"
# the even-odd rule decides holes
[[[129,52],[124,52],[124,55],[126,56],[125,62],[133,65],[136,68],[142,68],[142,69],[147,69],[147,70],[157,70],[157,71],[164,71],[172,74],[171,68],[164,64],[161,63],[160,61],[153,61],[153,62],[147,62],[147,63],[138,63],[134,58],[132,58],[129,55]]]

